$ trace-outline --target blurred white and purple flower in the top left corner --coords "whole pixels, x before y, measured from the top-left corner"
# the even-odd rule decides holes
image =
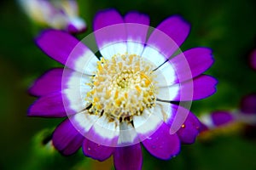
[[[75,0],[19,0],[26,14],[38,24],[70,33],[83,32],[86,23],[79,17]]]

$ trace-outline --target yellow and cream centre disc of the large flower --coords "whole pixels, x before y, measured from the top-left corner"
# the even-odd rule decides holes
[[[154,65],[136,54],[114,55],[97,62],[86,100],[92,114],[109,120],[130,120],[154,107],[156,88]]]

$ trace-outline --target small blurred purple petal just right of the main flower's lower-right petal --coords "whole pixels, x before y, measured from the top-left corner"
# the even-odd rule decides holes
[[[212,112],[211,117],[212,117],[212,123],[217,127],[235,121],[232,114],[228,111]]]

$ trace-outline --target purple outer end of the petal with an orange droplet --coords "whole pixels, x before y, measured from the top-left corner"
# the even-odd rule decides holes
[[[195,138],[199,133],[201,122],[197,117],[189,112],[186,121],[182,127],[177,131],[177,136],[183,144],[192,144],[195,142]]]

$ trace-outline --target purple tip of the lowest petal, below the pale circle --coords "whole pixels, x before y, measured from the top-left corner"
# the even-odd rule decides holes
[[[118,147],[113,153],[114,167],[117,170],[140,170],[143,167],[143,152],[140,144]]]

